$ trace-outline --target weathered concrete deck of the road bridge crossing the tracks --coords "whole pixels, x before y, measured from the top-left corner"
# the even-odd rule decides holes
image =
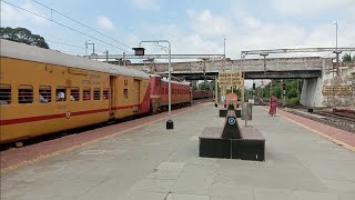
[[[168,63],[138,63],[133,67],[168,74]],[[245,79],[314,79],[322,77],[323,69],[332,69],[333,63],[331,58],[304,57],[172,62],[171,67],[173,76],[186,80],[215,79],[223,70],[244,71]]]

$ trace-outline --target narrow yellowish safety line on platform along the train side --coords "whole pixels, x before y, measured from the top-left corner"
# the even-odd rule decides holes
[[[209,103],[200,103],[200,104],[196,104],[196,107],[207,106],[207,104],[209,104]],[[195,110],[195,108],[191,108],[191,109],[189,109],[189,110],[185,110],[185,111],[182,111],[182,112],[180,112],[180,113],[172,114],[172,116],[180,116],[180,114],[186,113],[186,112],[192,111],[192,110]],[[133,131],[133,130],[135,130],[135,129],[142,128],[142,127],[148,126],[148,124],[155,123],[155,122],[161,121],[161,120],[164,120],[164,119],[165,119],[165,118],[161,118],[161,119],[158,119],[158,120],[153,120],[153,121],[150,121],[150,122],[145,122],[145,123],[143,123],[143,124],[140,124],[140,126],[136,126],[136,127],[133,127],[133,128],[129,128],[129,129],[125,129],[125,130],[122,130],[122,131],[119,131],[119,132],[114,132],[114,133],[112,133],[112,134],[109,134],[109,136],[105,136],[105,137],[102,137],[102,138],[97,138],[97,139],[94,139],[94,140],[90,140],[90,141],[87,141],[87,142],[83,142],[83,143],[80,143],[80,144],[77,144],[77,146],[67,148],[67,149],[62,149],[62,150],[59,150],[59,151],[55,151],[55,152],[52,152],[52,153],[49,153],[49,154],[40,156],[40,157],[34,158],[34,159],[32,159],[32,160],[27,160],[27,161],[23,161],[23,162],[13,164],[13,166],[9,166],[9,167],[7,167],[7,168],[1,169],[0,173],[7,173],[7,172],[10,172],[10,171],[12,171],[12,170],[14,170],[14,169],[18,169],[18,168],[20,168],[20,167],[24,167],[24,166],[28,166],[28,164],[31,164],[31,163],[34,163],[34,162],[38,162],[38,161],[41,161],[41,160],[51,158],[51,157],[55,157],[55,156],[62,154],[62,153],[64,153],[64,152],[69,152],[69,151],[79,149],[79,148],[81,148],[81,147],[84,147],[84,146],[88,146],[88,144],[91,144],[91,143],[99,142],[99,141],[104,140],[104,139],[113,138],[113,137],[115,137],[115,136],[119,136],[119,134],[123,134],[123,133],[125,133],[125,132]]]

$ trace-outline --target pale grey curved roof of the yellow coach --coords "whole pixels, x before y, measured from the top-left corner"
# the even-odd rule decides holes
[[[1,39],[0,54],[1,57],[16,58],[21,60],[149,79],[149,74],[140,70],[94,61],[82,57],[71,56],[3,39]]]

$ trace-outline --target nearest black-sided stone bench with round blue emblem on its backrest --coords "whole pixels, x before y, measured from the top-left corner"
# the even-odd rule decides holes
[[[224,127],[206,127],[199,139],[200,157],[265,161],[265,138],[256,128],[240,128],[233,111]]]

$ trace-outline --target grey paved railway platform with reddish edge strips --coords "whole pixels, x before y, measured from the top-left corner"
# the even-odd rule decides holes
[[[203,129],[224,123],[219,109],[174,110],[173,130],[161,113],[3,151],[1,200],[355,199],[354,134],[254,107],[265,162],[200,158]]]

